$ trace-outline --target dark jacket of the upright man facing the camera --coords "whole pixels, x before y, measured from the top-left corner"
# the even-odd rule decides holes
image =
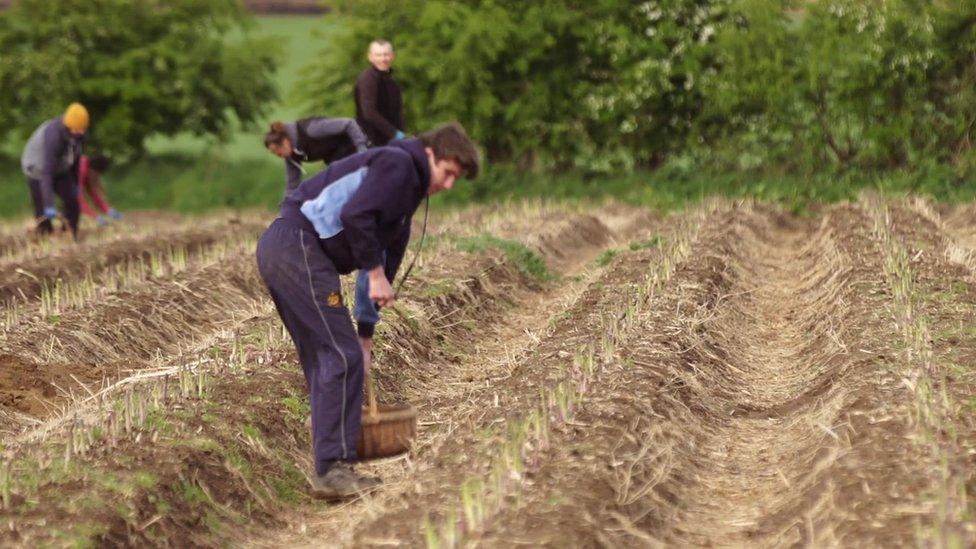
[[[393,69],[369,67],[356,79],[356,121],[373,146],[389,143],[403,131],[403,98]]]

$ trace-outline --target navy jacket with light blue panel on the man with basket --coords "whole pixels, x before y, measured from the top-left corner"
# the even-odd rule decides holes
[[[382,264],[392,281],[410,241],[410,220],[429,186],[423,143],[403,139],[329,164],[285,195],[279,217],[317,234],[339,273]],[[313,223],[309,212],[316,206],[319,212],[334,207],[338,215]]]

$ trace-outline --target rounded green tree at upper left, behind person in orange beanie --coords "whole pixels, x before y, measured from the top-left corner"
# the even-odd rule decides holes
[[[275,98],[273,43],[235,0],[18,0],[0,13],[0,137],[72,101],[119,156],[154,134],[227,136]]]

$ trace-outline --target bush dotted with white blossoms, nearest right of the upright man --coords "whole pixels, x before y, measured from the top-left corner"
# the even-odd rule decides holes
[[[581,102],[601,168],[657,164],[685,146],[715,74],[714,35],[725,0],[601,0],[589,8]],[[611,145],[611,146],[608,146]]]

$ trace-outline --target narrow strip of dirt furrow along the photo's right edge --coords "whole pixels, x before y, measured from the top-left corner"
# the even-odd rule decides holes
[[[958,210],[958,209],[957,209]],[[921,199],[886,206],[887,230],[904,250],[911,280],[911,322],[924,337],[907,338],[907,354],[925,365],[916,381],[919,431],[938,463],[932,498],[936,517],[921,539],[937,546],[972,546],[976,503],[976,250],[965,233]],[[970,221],[971,222],[971,221]],[[974,241],[976,243],[976,241]]]

